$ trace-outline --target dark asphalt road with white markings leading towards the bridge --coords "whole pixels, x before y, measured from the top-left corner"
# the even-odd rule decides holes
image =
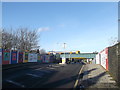
[[[38,64],[3,70],[3,88],[73,88],[82,64]]]

